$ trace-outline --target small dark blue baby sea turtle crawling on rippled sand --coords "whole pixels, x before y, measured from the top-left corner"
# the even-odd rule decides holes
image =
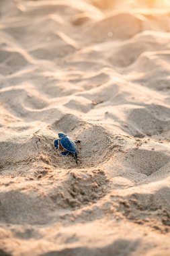
[[[54,147],[56,150],[60,146],[65,150],[61,152],[62,156],[69,156],[69,154],[72,154],[75,158],[75,162],[77,163],[77,142],[81,142],[80,140],[73,140],[69,136],[65,135],[65,133],[58,133],[59,139],[54,140]],[[77,163],[78,164],[78,163]]]

